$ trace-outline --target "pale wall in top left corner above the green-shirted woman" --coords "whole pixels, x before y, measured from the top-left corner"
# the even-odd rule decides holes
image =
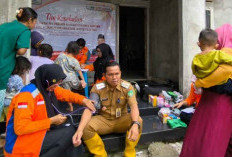
[[[31,0],[1,0],[0,24],[14,20],[19,7],[31,7]]]

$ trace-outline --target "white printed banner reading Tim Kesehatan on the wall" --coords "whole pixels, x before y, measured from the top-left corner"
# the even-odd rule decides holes
[[[38,13],[35,30],[51,44],[54,51],[65,51],[69,41],[86,40],[92,52],[97,46],[98,34],[104,34],[106,43],[116,52],[115,5],[92,1],[44,0],[33,5]]]

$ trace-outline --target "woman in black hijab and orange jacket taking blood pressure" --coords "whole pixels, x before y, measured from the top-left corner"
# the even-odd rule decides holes
[[[59,87],[66,78],[57,64],[45,64],[35,79],[16,95],[7,115],[6,157],[64,157],[82,155],[72,145],[75,128],[62,125],[67,117],[58,114],[58,100],[82,104],[95,111],[92,101]],[[68,154],[68,155],[67,155]]]

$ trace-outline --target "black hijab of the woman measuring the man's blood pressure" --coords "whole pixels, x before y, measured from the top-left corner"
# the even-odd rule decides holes
[[[40,93],[43,95],[48,117],[56,115],[56,111],[52,107],[52,104],[57,106],[58,100],[54,92],[48,92],[47,88],[53,84],[56,84],[60,80],[64,80],[66,75],[62,68],[58,64],[44,64],[37,68],[35,71],[35,79],[31,80],[34,83]]]

